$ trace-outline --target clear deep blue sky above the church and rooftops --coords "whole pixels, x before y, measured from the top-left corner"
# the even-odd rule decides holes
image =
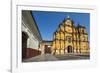
[[[78,23],[84,25],[90,38],[89,13],[32,11],[32,15],[37,23],[43,40],[52,40],[53,33],[58,28],[58,25],[62,23],[67,16],[74,21],[76,26]]]

